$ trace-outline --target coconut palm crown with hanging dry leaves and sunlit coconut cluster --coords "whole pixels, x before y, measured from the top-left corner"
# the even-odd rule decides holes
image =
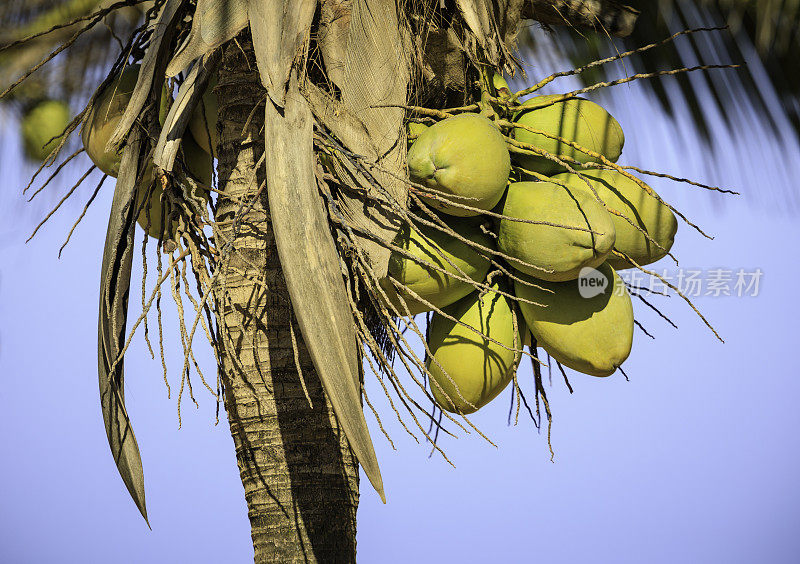
[[[225,328],[215,320],[214,313],[225,307],[219,277],[234,253],[242,217],[261,199],[269,204],[300,337],[350,448],[384,500],[362,409],[362,399],[372,408],[363,360],[403,427],[415,438],[431,440],[443,456],[430,436],[444,429],[442,418],[478,431],[463,416],[509,383],[517,416],[524,405],[534,417],[517,380],[523,357],[533,363],[537,413],[541,399],[549,419],[537,347],[580,372],[613,373],[630,353],[636,324],[630,295],[639,295],[615,269],[651,273],[645,268],[650,262],[674,259],[670,249],[678,220],[705,235],[641,177],[666,176],[717,189],[617,164],[622,129],[587,96],[633,80],[729,65],[653,70],[538,96],[560,77],[649,53],[700,31],[679,32],[512,92],[503,77],[521,74],[516,43],[523,20],[553,24],[558,14],[573,25],[625,35],[637,12],[614,2],[603,11],[588,2],[587,17],[567,6],[558,10],[574,3],[543,0],[96,4],[65,2],[80,15],[54,25],[37,20],[30,41],[69,30],[66,49],[79,40],[100,42],[94,30],[101,21],[134,9],[131,13],[144,14],[144,24],[125,28],[126,43],[110,70],[84,109],[55,136],[57,146],[39,170],[58,162],[70,134],[82,129],[85,145],[92,134],[102,140],[91,150],[86,146],[89,156],[105,174],[116,175],[100,282],[99,387],[112,454],[145,518],[141,456],[124,402],[124,353],[139,326],[146,327],[161,284],[181,277],[188,291],[191,273],[197,288],[187,294],[193,315],[184,318],[175,294],[182,383],[190,366],[197,367],[192,343],[198,328],[220,365],[223,350],[236,358]],[[256,163],[263,181],[235,202],[235,213],[218,217],[215,198],[229,195],[215,186],[206,166],[218,155],[215,139],[222,130],[211,96],[226,86],[219,73],[221,50],[231,42],[248,49],[252,44],[252,71],[263,87],[261,102],[252,108],[263,115],[257,142],[265,152]],[[20,38],[5,50],[27,43]],[[114,123],[94,125],[98,112],[109,106],[108,96],[121,94],[119,77],[133,65],[138,65],[135,84],[126,89]],[[9,72],[17,78],[4,94],[35,76]],[[75,91],[67,83],[61,88]],[[108,127],[103,135],[100,126]],[[197,158],[201,148],[204,157]],[[101,166],[98,155],[110,163]],[[620,201],[635,203],[626,209]],[[145,241],[148,236],[157,241],[159,260],[165,257],[167,265],[163,271],[159,263],[156,288],[142,296],[143,313],[129,329],[137,221]],[[222,223],[232,226],[232,239],[218,229]],[[587,269],[605,280],[607,295],[581,301],[576,284]],[[431,317],[429,330],[415,321],[418,313]],[[407,330],[424,354],[414,350]],[[486,359],[484,366],[461,364],[478,357]],[[398,374],[396,360],[407,374]],[[219,398],[219,383],[215,391],[202,372],[200,377]],[[420,394],[432,409],[415,399]],[[435,432],[426,428],[429,422]]]

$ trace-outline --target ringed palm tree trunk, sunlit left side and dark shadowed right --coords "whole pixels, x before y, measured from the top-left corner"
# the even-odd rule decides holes
[[[217,94],[224,195],[214,236],[219,248],[233,241],[215,287],[218,349],[255,561],[354,562],[358,466],[293,320],[266,189],[239,211],[264,182],[255,163],[266,94],[249,34],[224,48]]]

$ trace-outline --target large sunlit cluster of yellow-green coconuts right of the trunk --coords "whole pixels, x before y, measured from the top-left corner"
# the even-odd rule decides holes
[[[401,314],[441,310],[428,327],[427,369],[434,399],[451,412],[495,398],[531,335],[564,366],[612,374],[634,326],[617,270],[662,258],[677,230],[649,186],[601,168],[617,161],[624,136],[599,105],[534,97],[504,129],[477,113],[409,127],[411,180],[451,232],[407,226],[382,286]],[[487,280],[489,257],[508,276]],[[602,292],[581,292],[587,272]]]

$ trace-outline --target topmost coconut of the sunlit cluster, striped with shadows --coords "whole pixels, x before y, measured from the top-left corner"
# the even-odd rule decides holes
[[[523,106],[531,109],[517,113],[514,121],[520,125],[577,143],[581,147],[616,162],[622,153],[625,135],[614,116],[601,106],[583,98],[551,104],[552,100],[557,97],[558,95],[536,96],[526,100]],[[543,149],[551,155],[572,158],[581,163],[598,161],[595,157],[589,156],[563,141],[541,133],[515,128],[514,138],[521,143],[528,143]],[[517,153],[514,155],[514,160],[522,168],[546,175],[566,170],[563,166],[543,156]]]

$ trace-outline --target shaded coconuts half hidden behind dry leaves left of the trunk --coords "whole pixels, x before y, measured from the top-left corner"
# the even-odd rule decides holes
[[[81,140],[86,154],[105,174],[114,178],[119,174],[122,153],[109,151],[106,146],[119,121],[125,113],[139,76],[139,65],[126,67],[112,82],[103,88],[95,98],[95,103],[84,122]],[[164,121],[169,110],[170,96],[166,87],[161,93],[159,119]],[[199,188],[192,194],[198,201],[208,203],[209,193],[202,186],[210,186],[213,174],[212,155],[216,152],[217,101],[213,84],[209,85],[192,115],[188,130],[181,141],[181,153],[187,172],[198,181]],[[137,194],[140,195],[135,206],[138,210],[137,223],[151,237],[173,239],[177,229],[174,214],[163,209],[163,186],[155,182],[153,164],[145,169]],[[149,188],[152,186],[152,189]],[[147,205],[141,201],[148,194]],[[163,221],[169,216],[170,223],[165,227]]]

